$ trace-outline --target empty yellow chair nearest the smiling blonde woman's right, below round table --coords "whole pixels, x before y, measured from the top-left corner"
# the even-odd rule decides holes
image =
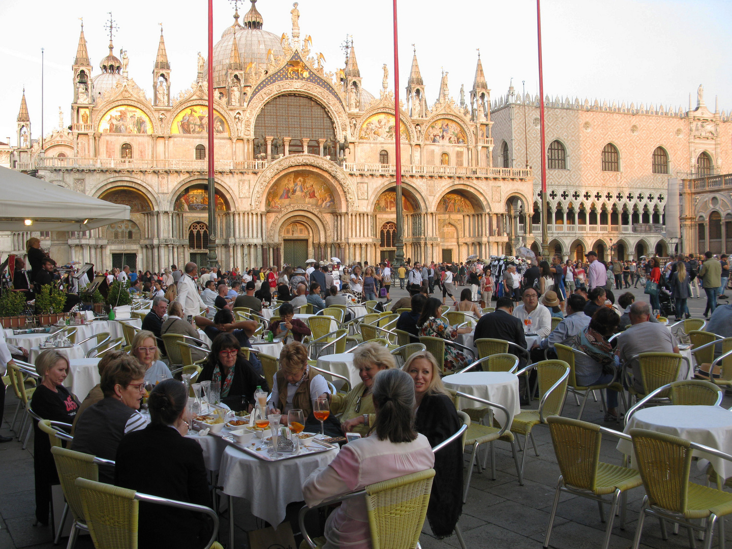
[[[455,403],[455,408],[460,406],[460,398],[467,398],[469,400],[475,400],[476,402],[485,404],[490,408],[498,408],[506,414],[507,418],[511,417],[508,408],[504,408],[500,404],[492,403],[490,400],[483,398],[474,397],[467,393],[460,391],[453,391],[447,389],[450,395],[452,395],[452,402]],[[468,500],[468,490],[470,489],[470,479],[473,476],[473,465],[477,466],[478,473],[482,473],[483,469],[486,468],[486,462],[488,461],[488,454],[490,453],[490,478],[496,480],[496,449],[494,443],[497,440],[505,441],[511,444],[511,452],[513,454],[513,461],[516,466],[516,474],[518,474],[518,484],[523,486],[523,471],[518,465],[518,452],[516,448],[516,439],[513,433],[509,430],[510,424],[508,421],[504,422],[504,425],[498,425],[496,422],[490,422],[490,425],[482,425],[480,423],[471,422],[470,416],[465,411],[458,409],[458,416],[463,422],[463,425],[468,426],[466,430],[466,436],[463,440],[463,452],[466,452],[468,448],[472,448],[470,455],[470,463],[468,463],[468,478],[465,481],[465,488],[463,490],[463,503]],[[483,463],[480,463],[480,445],[488,444],[488,450],[485,452],[485,458]]]

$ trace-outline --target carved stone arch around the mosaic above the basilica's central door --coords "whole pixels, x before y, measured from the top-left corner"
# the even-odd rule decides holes
[[[266,191],[275,182],[283,172],[294,171],[314,171],[328,179],[333,190],[338,195],[341,204],[341,211],[354,211],[356,209],[356,192],[355,186],[351,179],[348,178],[346,172],[324,157],[315,156],[313,154],[291,154],[282,157],[275,162],[269,164],[257,178],[252,192],[252,201],[250,203],[253,211],[263,210],[265,207],[264,199]],[[337,183],[337,184],[336,184]]]

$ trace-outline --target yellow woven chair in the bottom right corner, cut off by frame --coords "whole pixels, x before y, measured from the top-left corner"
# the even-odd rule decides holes
[[[720,518],[721,546],[722,523],[724,517],[732,513],[732,494],[689,482],[689,472],[694,450],[729,461],[732,461],[732,455],[657,431],[631,429],[630,436],[646,488],[632,547],[638,549],[641,543],[646,515],[660,519],[663,539],[668,539],[664,520],[686,526],[690,542],[693,542],[692,530],[703,531],[706,548],[712,547],[714,524]],[[694,519],[706,519],[706,524],[692,523]]]

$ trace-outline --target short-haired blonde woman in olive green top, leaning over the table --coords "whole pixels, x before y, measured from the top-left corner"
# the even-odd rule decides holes
[[[343,433],[359,433],[367,436],[376,421],[373,408],[373,379],[382,370],[397,367],[394,356],[378,343],[365,343],[354,351],[354,367],[359,370],[361,383],[347,394],[328,395],[330,411],[340,414],[340,427]]]

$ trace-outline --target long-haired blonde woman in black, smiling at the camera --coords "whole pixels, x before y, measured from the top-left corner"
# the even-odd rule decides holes
[[[414,380],[414,428],[434,447],[462,425],[452,396],[442,384],[437,361],[430,351],[412,354],[402,370]],[[434,467],[427,520],[433,534],[441,538],[452,534],[463,512],[463,441],[458,438],[437,452]]]

